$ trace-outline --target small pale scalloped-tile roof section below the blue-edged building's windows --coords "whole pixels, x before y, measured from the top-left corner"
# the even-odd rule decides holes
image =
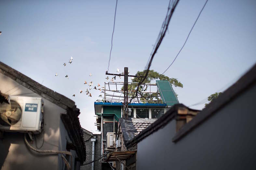
[[[134,135],[138,135],[142,130],[146,129],[151,123],[155,122],[157,119],[148,118],[131,118],[134,128],[137,130]]]

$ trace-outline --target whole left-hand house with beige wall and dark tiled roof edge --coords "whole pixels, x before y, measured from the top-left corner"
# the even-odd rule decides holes
[[[40,124],[39,134],[13,131],[11,127],[9,130],[3,130],[3,126],[8,126],[8,121],[12,122],[11,118],[7,119],[4,114],[11,113],[8,109],[13,110],[15,107],[8,101],[0,104],[0,169],[67,169],[68,166],[73,170],[80,169],[80,164],[85,161],[86,151],[78,119],[80,111],[76,108],[74,101],[35,82],[2,62],[0,62],[0,82],[1,93],[9,96],[10,99],[27,97],[43,101],[43,110],[41,110],[43,121]],[[26,111],[24,107],[24,105],[20,106],[21,114]],[[22,121],[32,119],[33,113],[27,114],[31,116],[26,117],[28,120],[22,117]],[[24,141],[24,134],[28,143]],[[38,153],[31,148],[40,151],[64,151],[72,155]]]

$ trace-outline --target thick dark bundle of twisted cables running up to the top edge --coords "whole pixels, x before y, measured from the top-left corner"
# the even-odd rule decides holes
[[[138,95],[139,87],[140,87],[140,85],[143,83],[143,81],[146,79],[146,77],[147,77],[147,75],[148,75],[149,68],[150,68],[151,63],[152,63],[152,61],[153,61],[153,58],[154,58],[154,56],[155,56],[155,53],[156,53],[156,51],[158,50],[158,48],[159,48],[159,46],[160,46],[160,44],[161,44],[161,42],[162,42],[162,40],[163,40],[163,38],[164,38],[164,36],[165,36],[165,33],[166,33],[167,29],[168,29],[168,25],[169,25],[169,23],[170,23],[170,19],[171,19],[171,17],[172,17],[172,14],[173,14],[173,12],[174,12],[174,10],[175,10],[175,8],[176,8],[178,2],[179,2],[179,0],[177,0],[177,1],[173,2],[173,4],[171,4],[171,0],[169,1],[168,12],[169,12],[169,10],[171,9],[171,10],[170,10],[170,13],[169,13],[169,15],[168,15],[168,13],[167,13],[167,17],[165,17],[165,20],[164,20],[163,26],[162,26],[162,28],[161,28],[161,30],[160,30],[158,39],[157,39],[157,41],[156,41],[156,43],[155,43],[155,46],[154,46],[154,48],[153,48],[153,51],[154,51],[154,52],[152,53],[151,58],[150,58],[150,60],[149,60],[149,62],[148,62],[148,64],[147,64],[148,66],[147,66],[147,70],[146,70],[146,72],[145,72],[145,75],[144,75],[144,77],[141,79],[141,81],[139,82],[138,87],[137,87],[137,90],[136,90],[136,95],[133,96],[133,97],[131,97],[130,102],[132,101],[132,99],[133,99],[134,97],[136,97],[136,96]]]

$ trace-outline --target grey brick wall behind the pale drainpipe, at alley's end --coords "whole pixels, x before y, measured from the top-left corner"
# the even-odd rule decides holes
[[[86,146],[86,161],[85,163],[91,162],[92,161],[92,142],[91,139],[93,137],[96,137],[96,142],[95,142],[95,151],[94,151],[94,160],[98,159],[101,157],[101,135],[100,134],[93,134],[93,136],[84,133],[84,141],[85,141],[85,146]],[[91,163],[87,165],[80,166],[81,170],[91,170]],[[100,170],[101,169],[101,163],[100,160],[94,162],[94,169],[95,170]]]

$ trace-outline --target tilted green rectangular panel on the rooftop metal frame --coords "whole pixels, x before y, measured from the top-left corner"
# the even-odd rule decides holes
[[[156,85],[164,103],[173,106],[179,103],[177,96],[168,80],[156,80]]]

